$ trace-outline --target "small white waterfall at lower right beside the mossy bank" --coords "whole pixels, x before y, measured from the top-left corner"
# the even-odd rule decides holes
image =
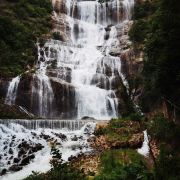
[[[137,151],[139,154],[142,154],[143,156],[148,156],[149,155],[149,140],[148,140],[147,130],[143,131],[143,133],[144,133],[143,145]]]

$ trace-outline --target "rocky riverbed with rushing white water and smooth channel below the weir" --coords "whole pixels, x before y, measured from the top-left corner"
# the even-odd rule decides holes
[[[22,123],[23,120],[20,121]],[[51,128],[36,126],[32,129],[30,121],[35,120],[24,120],[24,126],[17,124],[18,121],[0,124],[0,175],[2,179],[18,180],[31,174],[32,171],[48,171],[52,147],[60,150],[64,161],[68,161],[72,155],[91,151],[88,139],[94,131],[94,122],[86,122],[84,125],[79,122],[79,126],[78,122],[77,124],[73,124],[74,121],[68,122],[67,127],[62,126],[64,128],[60,129],[57,121],[52,120]],[[40,122],[42,120],[39,120]],[[31,129],[25,128],[25,123],[29,123]],[[53,123],[56,126],[53,126]],[[69,129],[67,129],[68,125],[70,125]],[[45,162],[41,159],[45,159]]]

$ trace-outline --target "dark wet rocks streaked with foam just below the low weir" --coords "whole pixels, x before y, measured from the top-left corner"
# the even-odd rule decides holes
[[[31,127],[30,122],[31,120],[24,120],[24,123],[28,123],[29,127]],[[55,123],[57,122],[55,121]],[[74,121],[72,124],[67,121],[66,125],[73,128],[75,124]],[[0,138],[0,148],[3,149],[3,154],[2,151],[0,152],[0,160],[3,163],[3,166],[0,164],[0,175],[23,170],[25,166],[37,161],[41,155],[39,151],[48,150],[50,156],[51,148],[56,147],[62,153],[68,153],[67,157],[69,154],[78,155],[80,152],[90,151],[87,139],[92,135],[95,124],[85,123],[83,126],[77,123],[77,125],[79,125],[76,127],[78,131],[77,129],[53,130],[48,128],[29,130],[19,124],[10,123],[7,126],[0,124],[0,130],[3,130],[1,135],[5,135],[3,139]],[[65,126],[63,127],[65,128]],[[36,158],[36,156],[38,157]]]

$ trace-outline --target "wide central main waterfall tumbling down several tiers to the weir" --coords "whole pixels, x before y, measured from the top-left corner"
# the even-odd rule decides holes
[[[69,45],[53,40],[45,44],[52,50],[49,57],[54,57],[57,68],[61,67],[63,71],[61,79],[75,86],[78,119],[84,116],[110,119],[120,113],[112,83],[120,77],[127,88],[128,84],[121,73],[120,58],[111,56],[110,51],[121,46],[116,29],[118,26],[123,29],[123,23],[131,18],[133,3],[133,0],[102,4],[98,1],[67,0],[66,20],[71,35]],[[106,29],[109,29],[107,39]],[[67,81],[69,69],[71,78]]]

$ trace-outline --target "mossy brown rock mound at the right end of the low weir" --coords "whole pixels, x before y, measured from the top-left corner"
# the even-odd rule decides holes
[[[130,117],[112,119],[106,127],[96,129],[94,134],[97,136],[95,144],[102,147],[105,143],[104,149],[135,149],[141,147],[143,142],[139,120]]]

